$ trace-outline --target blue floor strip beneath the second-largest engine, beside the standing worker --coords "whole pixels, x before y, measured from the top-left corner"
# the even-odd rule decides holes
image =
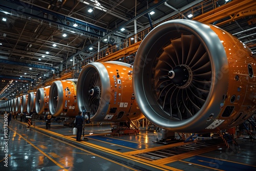
[[[124,141],[124,140],[118,140],[110,137],[104,137],[104,136],[89,136],[88,138],[104,141],[104,142],[109,142],[112,144],[117,144],[117,145],[122,145],[125,147],[129,148],[135,148],[135,149],[145,149],[146,145],[145,144],[140,144],[140,143],[135,143],[135,142],[129,142],[129,141]]]

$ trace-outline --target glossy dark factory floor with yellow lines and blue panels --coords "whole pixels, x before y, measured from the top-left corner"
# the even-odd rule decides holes
[[[32,123],[33,124],[33,123]],[[256,141],[237,139],[225,146],[220,139],[174,144],[155,143],[160,132],[110,135],[111,125],[86,127],[75,141],[72,127],[44,122],[35,126],[0,116],[0,170],[256,170]]]

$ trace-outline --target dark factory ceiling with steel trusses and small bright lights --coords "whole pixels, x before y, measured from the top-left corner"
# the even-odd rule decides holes
[[[239,1],[2,0],[0,99],[27,92],[38,82],[87,60],[98,49],[125,40],[175,15],[196,19],[208,11],[236,2]],[[240,2],[247,2],[245,8],[249,10],[227,14],[225,10],[228,9],[225,9],[220,14],[229,17],[223,15],[208,23],[237,36],[255,53],[256,8],[253,8],[253,1]],[[150,14],[152,11],[155,13]],[[189,18],[189,14],[193,16]],[[121,28],[125,30],[121,31]],[[7,86],[12,88],[6,91]]]

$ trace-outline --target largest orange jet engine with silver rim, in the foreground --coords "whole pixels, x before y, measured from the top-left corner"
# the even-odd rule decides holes
[[[228,32],[175,19],[141,42],[133,68],[140,110],[173,132],[229,129],[256,110],[256,58]]]

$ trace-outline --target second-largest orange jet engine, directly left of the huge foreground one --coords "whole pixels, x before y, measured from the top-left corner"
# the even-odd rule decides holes
[[[80,111],[95,122],[121,122],[143,118],[132,87],[132,66],[118,61],[92,62],[77,81]]]

